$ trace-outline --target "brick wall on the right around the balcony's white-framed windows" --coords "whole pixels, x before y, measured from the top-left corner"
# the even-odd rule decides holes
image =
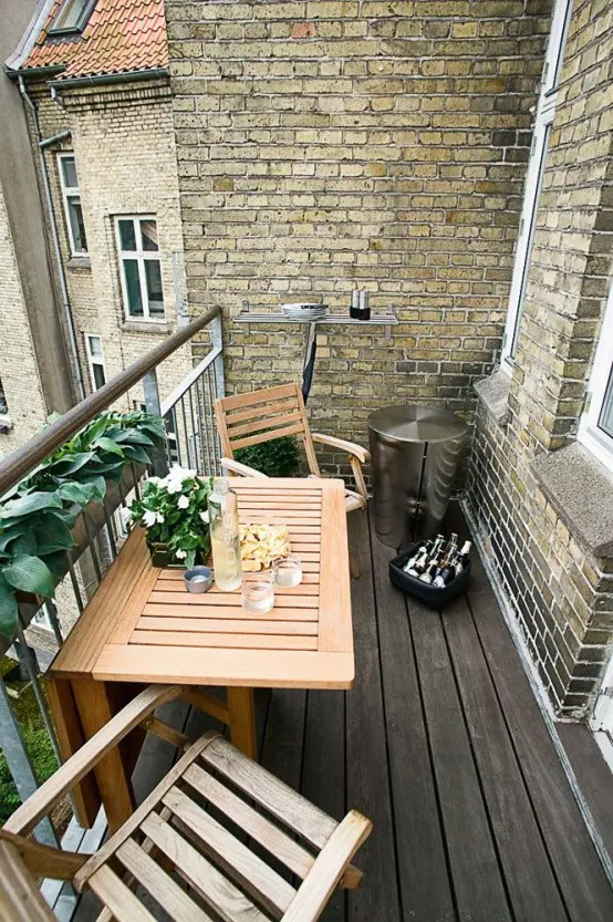
[[[554,707],[573,716],[589,712],[611,655],[613,560],[560,518],[532,463],[576,432],[611,279],[612,52],[611,6],[576,0],[508,414],[501,424],[481,405],[468,494]]]

